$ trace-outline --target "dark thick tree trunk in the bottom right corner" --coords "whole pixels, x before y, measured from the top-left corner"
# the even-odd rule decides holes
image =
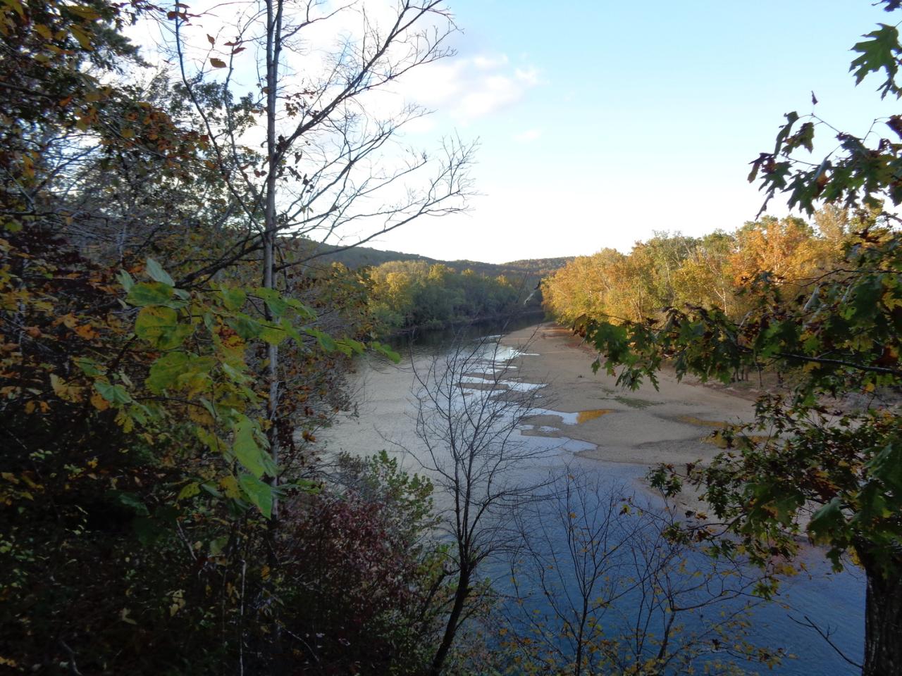
[[[862,676],[902,674],[902,577],[884,575],[861,557],[868,577]]]

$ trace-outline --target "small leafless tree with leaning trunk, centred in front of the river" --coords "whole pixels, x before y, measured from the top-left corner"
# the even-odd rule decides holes
[[[548,451],[518,431],[534,413],[537,388],[518,389],[510,361],[500,343],[461,338],[415,372],[421,448],[404,450],[440,491],[438,529],[450,542],[447,574],[453,580],[445,631],[430,668],[434,676],[478,607],[477,571],[516,540],[511,516],[543,483],[524,477],[523,470]]]

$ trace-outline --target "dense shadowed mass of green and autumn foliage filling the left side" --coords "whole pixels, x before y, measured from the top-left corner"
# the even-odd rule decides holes
[[[316,655],[292,636],[322,628],[308,602],[344,592],[330,586],[337,556],[310,586],[313,555],[288,553],[318,501],[345,499],[324,489],[315,433],[348,407],[346,355],[373,328],[367,284],[336,267],[259,286],[243,236],[257,214],[226,185],[234,168],[183,86],[142,82],[123,37],[158,11],[0,4],[0,664],[14,673],[303,671]],[[193,94],[207,119],[234,106],[246,128],[222,87]],[[270,346],[284,386],[272,407]],[[380,672],[428,650],[428,623],[392,634],[403,603],[440,598],[418,586],[441,570],[417,530],[425,484],[395,468],[391,485],[373,478],[342,524],[372,525],[367,545],[409,529],[369,578]],[[351,671],[333,619],[329,659]]]

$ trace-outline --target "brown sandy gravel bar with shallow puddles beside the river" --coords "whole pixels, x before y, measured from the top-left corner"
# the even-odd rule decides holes
[[[579,452],[585,458],[645,467],[708,461],[721,450],[710,435],[749,422],[754,413],[747,397],[678,382],[667,372],[657,390],[648,383],[636,391],[620,388],[616,378],[592,372],[594,352],[557,324],[508,333],[502,344],[524,352],[517,379],[547,383],[542,406],[550,411],[530,418],[524,434],[594,444],[594,450]]]

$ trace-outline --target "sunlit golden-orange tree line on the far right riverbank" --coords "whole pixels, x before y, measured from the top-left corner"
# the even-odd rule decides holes
[[[842,267],[854,233],[873,227],[879,214],[828,205],[813,224],[765,215],[732,233],[655,233],[627,254],[603,249],[577,257],[543,279],[544,303],[566,324],[582,316],[619,324],[661,319],[667,307],[686,305],[719,307],[740,322],[756,304],[750,282],[762,271],[785,295],[810,292],[824,273]]]

